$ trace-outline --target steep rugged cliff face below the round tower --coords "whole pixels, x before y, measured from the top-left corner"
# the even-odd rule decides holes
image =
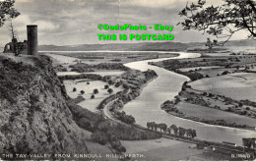
[[[0,154],[88,153],[46,56],[0,56]]]

